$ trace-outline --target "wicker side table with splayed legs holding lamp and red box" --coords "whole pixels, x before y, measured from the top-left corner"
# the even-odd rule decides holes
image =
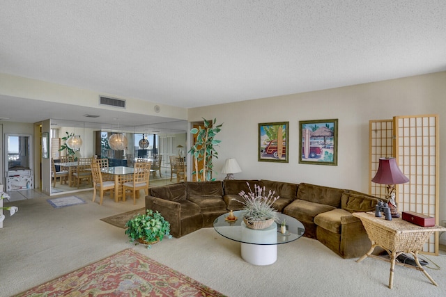
[[[407,252],[413,255],[417,268],[423,271],[426,278],[437,286],[437,283],[431,278],[431,275],[427,273],[420,262],[418,261],[418,252],[422,250],[424,243],[433,232],[445,231],[446,228],[434,226],[434,227],[420,227],[413,223],[406,222],[401,218],[392,218],[392,220],[385,220],[384,217],[376,217],[374,212],[357,212],[353,216],[360,218],[364,229],[371,240],[370,250],[356,262],[361,262],[367,257],[376,257],[371,255],[376,246],[384,248],[390,255],[390,276],[389,276],[389,288],[393,287],[393,275],[395,268],[395,260],[403,252]],[[383,259],[379,258],[378,259]]]

